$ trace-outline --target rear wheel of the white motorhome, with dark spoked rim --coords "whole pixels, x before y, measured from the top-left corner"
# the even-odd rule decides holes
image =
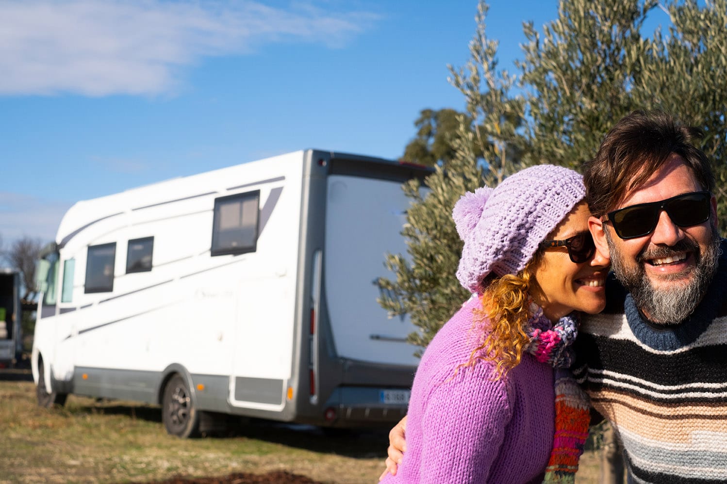
[[[194,408],[187,383],[180,375],[174,375],[164,388],[161,419],[166,432],[177,437],[199,435],[199,412]]]

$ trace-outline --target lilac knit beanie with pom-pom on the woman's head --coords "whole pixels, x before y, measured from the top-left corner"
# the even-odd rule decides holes
[[[519,273],[539,243],[584,196],[581,175],[553,165],[531,166],[496,188],[465,193],[452,210],[457,233],[465,241],[459,283],[481,292],[489,273]]]

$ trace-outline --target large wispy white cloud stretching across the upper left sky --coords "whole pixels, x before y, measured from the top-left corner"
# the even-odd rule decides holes
[[[0,95],[160,94],[202,57],[284,41],[342,47],[377,15],[332,12],[337,3],[0,1]]]

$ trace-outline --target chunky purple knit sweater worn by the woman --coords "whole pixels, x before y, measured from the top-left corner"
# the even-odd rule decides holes
[[[523,355],[505,378],[466,363],[478,338],[470,299],[430,342],[414,378],[406,453],[385,483],[522,484],[542,480],[553,447],[553,368]]]

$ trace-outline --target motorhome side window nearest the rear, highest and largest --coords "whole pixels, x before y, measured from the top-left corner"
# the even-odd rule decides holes
[[[243,254],[257,249],[260,190],[216,198],[212,223],[212,255]]]

